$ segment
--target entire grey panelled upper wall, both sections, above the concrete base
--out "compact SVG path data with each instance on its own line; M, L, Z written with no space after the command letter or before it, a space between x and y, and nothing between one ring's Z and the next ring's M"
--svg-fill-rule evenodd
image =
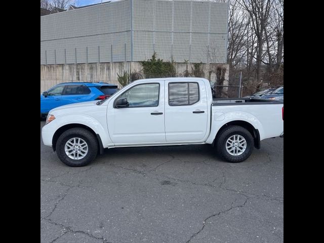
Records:
M131 0L41 17L41 64L142 61L226 63L227 4ZM209 53L209 55L208 55Z

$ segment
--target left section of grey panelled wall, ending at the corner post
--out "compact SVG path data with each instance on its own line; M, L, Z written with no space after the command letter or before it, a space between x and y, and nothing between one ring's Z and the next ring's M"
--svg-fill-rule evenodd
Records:
M131 61L130 2L42 16L41 64Z

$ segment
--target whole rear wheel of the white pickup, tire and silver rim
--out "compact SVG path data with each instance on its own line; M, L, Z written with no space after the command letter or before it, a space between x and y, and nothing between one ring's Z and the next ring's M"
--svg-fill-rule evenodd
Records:
M216 148L228 162L239 163L250 157L253 150L253 137L243 127L228 126L217 135Z

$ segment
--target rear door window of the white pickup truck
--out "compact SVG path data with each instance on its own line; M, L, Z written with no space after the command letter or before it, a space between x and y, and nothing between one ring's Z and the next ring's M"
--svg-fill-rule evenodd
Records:
M192 105L199 101L198 83L169 83L169 105Z

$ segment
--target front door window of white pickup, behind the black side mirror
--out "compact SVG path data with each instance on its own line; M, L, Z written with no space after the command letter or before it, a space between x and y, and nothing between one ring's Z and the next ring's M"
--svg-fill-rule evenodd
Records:
M158 96L159 84L143 84L129 89L117 99L127 98L129 107L153 107L158 106Z

